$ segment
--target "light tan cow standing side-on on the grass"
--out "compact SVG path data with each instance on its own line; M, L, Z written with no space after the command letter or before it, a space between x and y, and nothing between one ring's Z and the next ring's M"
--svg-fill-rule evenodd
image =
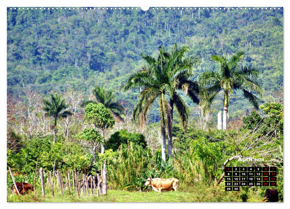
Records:
M154 178L151 179L149 177L145 183L145 186L151 186L152 189L156 192L161 192L162 190L166 191L177 191L178 188L178 179L171 178L171 179L161 179L161 178Z

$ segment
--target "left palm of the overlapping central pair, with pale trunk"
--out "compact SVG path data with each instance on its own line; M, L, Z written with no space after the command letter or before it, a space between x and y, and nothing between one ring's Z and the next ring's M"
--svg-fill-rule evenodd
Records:
M151 56L145 56L141 54L142 58L147 62L147 66L142 67L142 70L132 74L127 83L124 86L125 90L142 88L143 90L139 94L139 102L133 110L133 120L138 122L142 129L145 129L145 125L148 121L148 112L152 107L154 101L159 99L159 111L160 111L160 125L161 125L161 151L162 159L166 162L166 140L165 140L165 127L167 123L167 115L169 104L165 98L165 89L162 88L162 84L167 81L165 60L168 58L168 54L163 52L159 47L159 56L157 59Z

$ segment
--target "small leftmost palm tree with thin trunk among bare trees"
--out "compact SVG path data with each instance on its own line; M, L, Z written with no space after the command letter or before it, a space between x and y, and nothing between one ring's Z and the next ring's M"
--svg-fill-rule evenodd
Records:
M62 95L58 94L50 94L50 101L44 99L43 100L43 110L45 111L45 116L54 118L54 136L53 136L53 144L56 143L56 121L58 118L66 118L67 116L72 115L72 113L66 110L67 105L65 104L65 100L62 99Z

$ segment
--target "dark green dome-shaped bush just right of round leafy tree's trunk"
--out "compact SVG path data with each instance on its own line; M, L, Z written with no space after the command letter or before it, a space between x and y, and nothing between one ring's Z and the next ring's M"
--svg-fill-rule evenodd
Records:
M140 133L129 133L128 130L121 129L111 135L105 144L105 149L116 151L121 144L129 145L130 142L142 146L143 149L147 147L144 135Z

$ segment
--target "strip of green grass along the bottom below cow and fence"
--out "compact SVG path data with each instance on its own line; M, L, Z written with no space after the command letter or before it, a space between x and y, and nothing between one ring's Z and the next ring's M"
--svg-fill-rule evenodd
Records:
M177 192L129 192L122 190L108 190L105 196L83 194L81 198L76 192L70 196L68 191L64 191L62 197L60 191L55 192L55 198L51 191L47 191L45 198L38 190L36 197L33 193L24 196L12 195L11 190L7 192L7 202L242 202L240 196L243 191L225 192L223 187L219 188L184 188ZM250 194L247 202L261 202L256 194Z

